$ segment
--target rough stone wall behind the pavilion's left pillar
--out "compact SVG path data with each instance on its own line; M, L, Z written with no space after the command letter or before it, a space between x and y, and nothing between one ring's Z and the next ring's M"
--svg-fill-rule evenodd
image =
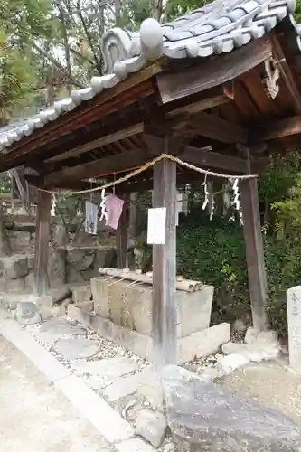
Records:
M33 222L6 223L6 240L9 249L12 251L12 258L9 258L14 267L14 261L20 259L33 259L34 263L34 245L35 245L35 225ZM101 235L101 231L99 232ZM108 233L106 233L108 241ZM71 240L74 231L71 232ZM74 245L70 245L66 237L64 227L60 224L52 224L52 240L50 243L50 256L48 265L48 277L51 287L60 287L65 283L83 283L90 278L98 276L100 267L114 267L116 264L116 250L112 244L101 246L99 238L94 238L80 231ZM112 240L110 240L112 243ZM8 259L8 258L7 258ZM5 283L5 274L2 276L2 285L24 290L24 288L33 287L33 268L29 269L28 275L20 276L27 278L26 281L15 278L14 284L10 278ZM25 283L25 284L24 284ZM10 288L8 288L10 289Z

